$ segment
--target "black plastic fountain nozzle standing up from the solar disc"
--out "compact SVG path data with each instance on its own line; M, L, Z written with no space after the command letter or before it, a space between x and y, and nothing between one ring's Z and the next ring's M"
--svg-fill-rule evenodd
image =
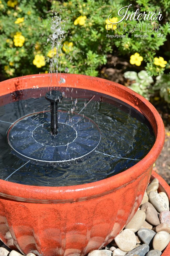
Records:
M57 119L57 109L58 102L63 99L62 92L60 91L49 91L45 96L46 100L51 103L51 132L53 135L58 133L58 119Z

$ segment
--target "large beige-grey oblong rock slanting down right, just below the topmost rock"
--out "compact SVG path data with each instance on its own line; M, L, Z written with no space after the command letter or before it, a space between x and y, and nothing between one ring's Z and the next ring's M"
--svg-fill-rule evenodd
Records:
M155 207L158 212L168 211L169 207L166 204L166 201L158 193L151 191L149 193L149 201Z

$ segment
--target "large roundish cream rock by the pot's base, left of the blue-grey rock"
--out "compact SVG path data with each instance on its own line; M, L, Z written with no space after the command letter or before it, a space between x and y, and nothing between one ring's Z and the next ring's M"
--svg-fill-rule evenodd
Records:
M115 242L123 252L129 252L136 245L135 233L130 229L124 229L115 237Z

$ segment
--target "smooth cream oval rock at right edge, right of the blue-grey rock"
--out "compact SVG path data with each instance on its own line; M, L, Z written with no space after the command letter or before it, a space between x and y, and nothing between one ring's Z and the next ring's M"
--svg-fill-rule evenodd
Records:
M166 231L160 231L154 236L152 245L155 250L160 250L162 252L162 250L168 245L169 241L170 234Z

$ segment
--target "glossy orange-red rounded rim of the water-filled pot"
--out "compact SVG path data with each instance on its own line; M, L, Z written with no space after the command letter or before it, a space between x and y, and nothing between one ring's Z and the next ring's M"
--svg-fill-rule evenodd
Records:
M90 77L86 75L77 75L77 74L62 74L62 76L65 78L69 77L70 79L74 79L74 80L75 78L80 79L81 81L87 80L89 84L90 84L90 81L92 83L95 81L98 83L104 82L105 85L107 85L108 87L110 88L114 87L114 92L104 91L102 88L97 88L95 90L93 85L91 85L90 87L91 89L89 87L87 89L100 92L100 93L105 93L112 97L119 98L124 102L130 104L134 108L136 108L138 111L140 111L147 117L147 113L145 113L144 111L141 111L138 106L138 103L136 102L135 104L134 102L132 102L133 101L132 99L135 98L135 99L138 99L140 102L144 103L147 108L147 111L149 109L149 111L154 116L154 122L155 122L154 125L156 126L155 129L157 134L155 134L156 140L153 147L142 160L140 160L137 164L133 165L131 168L123 171L122 173L111 176L109 178L95 181L95 182L90 182L88 184L60 186L60 187L57 187L57 186L43 187L43 186L22 185L22 184L10 182L10 181L4 181L0 179L0 196L1 197L5 197L15 201L24 201L24 202L32 202L32 203L37 203L37 202L64 203L64 202L84 201L90 198L108 194L112 191L117 190L120 187L126 186L127 184L133 182L135 179L138 179L138 177L140 177L143 173L145 173L147 169L154 164L157 157L160 155L161 150L163 148L164 140L165 140L165 128L163 125L163 121L160 117L160 114L157 112L155 107L148 100L146 100L143 96L139 95L138 93L132 91L131 89L123 85L120 85L118 83L105 80L102 78ZM2 88L1 95L5 95L5 94L8 94L9 92L12 92L12 91L8 92L6 89L7 85L9 87L9 82L11 83L15 83L18 81L26 82L27 80L29 81L30 79L37 79L38 81L38 79L43 79L43 78L47 79L48 77L49 77L49 74L36 74L36 75L27 75L27 76L16 77L13 79L5 80L3 82L0 82L0 86ZM40 87L43 87L43 86L41 86L40 84ZM62 85L62 87L68 87L68 85L67 84ZM78 83L71 85L71 87L86 89L84 85L81 85L81 84L79 85ZM32 88L32 87L31 86L25 87L25 89L28 89L28 88ZM24 88L18 89L18 90L23 90L23 89ZM131 100L127 100L126 98L123 98L121 96L120 91L126 91L127 95L130 95L132 97ZM119 96L119 93L120 93L120 96ZM148 117L148 120L149 120L149 117ZM150 120L149 122L152 124Z

